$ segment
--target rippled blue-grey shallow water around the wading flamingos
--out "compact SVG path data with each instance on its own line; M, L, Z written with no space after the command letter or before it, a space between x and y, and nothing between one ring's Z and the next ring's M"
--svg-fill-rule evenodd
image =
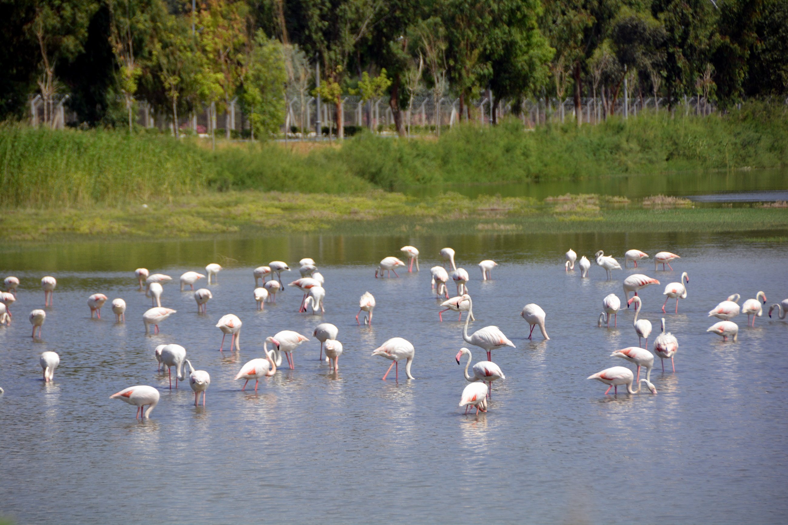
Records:
M377 261L399 247L422 250L421 272L374 279ZM487 414L463 416L466 386L454 357L462 326L438 323L429 289L437 250L453 246L471 275L477 322L496 324L516 344L493 352L507 379L495 384ZM675 272L640 271L663 286L689 272L689 298L666 316L678 337L677 372L657 368L659 394L604 396L585 378L614 365L611 351L637 344L633 312L617 329L597 327L600 301L633 270L604 280L563 271L569 247L619 258L626 248L682 255ZM255 311L251 268L314 257L325 275L325 316L296 312L292 288L277 305ZM785 244L752 244L730 236L467 235L403 238L294 235L255 240L50 245L0 253L0 268L22 279L11 327L0 327L2 438L0 515L19 523L785 523L788 519L788 322L756 320L739 341L705 329L706 312L728 294L742 300L764 290L788 297ZM481 283L476 264L500 267ZM233 262L235 260L236 262ZM226 266L206 316L191 293L165 285L163 304L178 310L160 335L144 335L149 299L132 271L166 272ZM58 278L43 341L25 319L43 305L42 275ZM297 271L285 273L285 283ZM203 281L204 283L204 281ZM658 331L660 287L642 291L645 318ZM453 287L452 287L453 288ZM377 298L374 326L355 324L359 296ZM95 292L128 303L127 323L107 305L89 319ZM548 342L528 341L522 306L547 312ZM217 352L225 313L243 320L240 353ZM261 381L258 394L232 378L262 355L267 335L291 329L311 338L327 321L340 328L344 355L329 373L312 338L294 353L296 369ZM656 331L655 334L656 335ZM538 332L538 331L536 331ZM386 339L416 347L414 381L381 381L389 361L370 357ZM188 383L167 389L153 349L176 342L210 372L207 406L195 408ZM651 342L649 342L650 344ZM57 351L54 383L43 383L39 353ZM483 353L471 348L474 362ZM657 359L657 361L659 361ZM464 360L463 360L464 366ZM162 394L151 420L110 400L126 386ZM483 512L480 508L490 509Z

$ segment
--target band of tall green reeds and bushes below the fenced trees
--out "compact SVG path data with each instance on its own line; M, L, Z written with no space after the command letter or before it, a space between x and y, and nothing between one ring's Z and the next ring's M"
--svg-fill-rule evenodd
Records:
M510 120L497 127L456 126L440 139L363 134L341 146L220 144L216 152L149 133L5 124L0 207L162 203L228 190L358 194L418 184L775 167L788 164L785 112L753 104L726 116L647 114L536 131Z

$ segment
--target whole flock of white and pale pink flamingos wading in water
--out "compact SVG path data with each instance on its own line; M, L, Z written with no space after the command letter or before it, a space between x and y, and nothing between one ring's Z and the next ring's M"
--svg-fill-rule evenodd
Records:
M395 277L399 277L396 268L407 267L407 272L413 272L415 266L415 271L419 271L418 250L414 248L414 246L403 246L401 251L409 262L406 264L397 257L385 257L375 271L376 278L383 277L384 273L390 277L391 272L394 272ZM499 379L506 379L501 368L492 361L492 350L504 348L505 346L514 347L515 344L496 326L483 327L478 331L474 331L473 334L468 335L468 324L471 320L475 320L473 300L470 298L470 294L468 294L466 288L466 283L470 279L470 276L463 268L457 268L455 264L455 250L444 248L440 250L440 256L444 260L444 265L430 268L432 290L434 290L441 299L446 299L440 304L440 307L444 308L438 312L440 321L443 321L443 313L449 310L458 312L459 320L462 320L463 312L466 312L467 315L462 334L463 341L487 353L487 360L479 361L471 367L470 364L473 357L470 353L470 349L466 347L459 349L455 359L457 364L460 364L461 358L467 356L463 372L466 381L470 383L463 389L459 406L464 406L466 408L466 414L472 407L476 409L477 414L479 411L486 412L489 400L492 397L492 382ZM634 268L637 268L638 261L642 261L647 257L649 257L649 255L640 250L629 250L624 255L624 268L626 268L630 262L634 264ZM671 262L680 258L681 257L678 257L675 253L656 253L654 256L655 272L658 271L660 264L662 264L663 270L666 265L672 270ZM581 277L588 277L591 262L587 257L583 256L580 258L580 261L577 261L577 253L575 253L574 250L569 250L566 253L566 259L567 261L564 264L566 272L573 272L574 265L577 262L580 267ZM602 250L596 253L595 259L597 265L600 266L600 268L604 268L607 272L608 279L611 279L612 270L621 269L619 262L616 261L614 257L604 255ZM315 314L318 313L318 311L325 312L323 308L323 301L325 298L325 288L322 286L325 283L323 275L318 272L314 260L310 258L302 259L299 261L299 264L299 273L301 277L288 284L289 287L296 287L303 292L303 298L299 301L299 312L307 312L307 309L310 308ZM451 268L450 270L447 270L447 264L448 267ZM495 261L481 261L478 266L481 270L482 280L492 279L492 268L497 266ZM180 276L180 290L184 291L187 286L190 287L190 290L194 290L194 285L199 279L206 279L208 285L216 283L217 274L221 269L219 264L208 264L205 268L206 275L198 272L185 272ZM265 308L266 302L276 302L277 293L280 292L284 286L281 281L281 273L289 271L290 268L288 264L282 261L273 261L267 266L260 266L253 270L252 273L255 277L253 295L258 309ZM274 274L276 274L276 279L273 277ZM158 333L158 325L162 324L169 316L177 312L176 310L162 307L162 285L172 280L172 277L161 273L151 274L146 268L137 268L135 276L139 283L139 290L144 290L146 296L150 297L152 302L151 309L143 313L145 333L150 333L151 325L153 326L154 333ZM269 280L266 281L266 278L269 278ZM260 284L260 279L262 279L262 287L258 286ZM449 298L448 294L447 284L449 279L454 281L457 288L457 295L453 298ZM11 323L10 306L16 301L17 287L19 287L20 280L10 276L5 279L4 284L6 286L6 291L0 292L0 324L7 325ZM618 394L619 386L626 386L626 392L629 394L637 394L641 390L641 383L645 383L649 391L651 391L652 394L656 394L656 387L650 381L651 371L654 366L654 354L649 352L648 349L652 324L649 320L638 319L643 302L637 295L638 290L642 290L652 284L660 284L660 281L643 274L629 275L623 280L623 290L627 308L629 308L630 305L635 305L633 327L637 334L638 346L629 346L624 349L616 350L610 354L610 357L619 357L629 361L636 367L636 372L633 373L630 368L615 366L589 375L588 379L597 379L601 383L608 385L608 390L604 393L605 395L607 395L611 389L615 389L615 394ZM678 301L679 299L687 298L688 285L689 275L687 275L687 272L682 272L681 279L678 283L669 283L665 287L663 292L665 295L665 302L662 305L663 313L666 312L665 306L669 299L675 299L675 312L678 313ZM54 290L55 287L57 287L57 280L47 275L41 279L41 287L44 291L45 307L52 305ZM630 298L630 293L634 293L632 298ZM197 304L198 312L205 313L207 303L212 298L213 295L207 288L194 290L194 299ZM739 294L733 294L728 297L726 301L720 302L719 305L716 305L715 308L708 312L708 316L718 318L719 322L709 327L707 331L721 335L723 341L727 341L728 338L736 341L738 338L738 325L735 324L732 319L738 316L739 313L747 314L748 325L754 327L756 316L760 317L763 315L762 304L765 305L767 302L766 294L764 294L763 291L759 291L758 294L756 294L756 298L746 300L741 307L738 305L740 299L741 296ZM91 311L91 318L93 316L97 316L99 319L101 318L101 309L106 301L108 301L108 298L105 294L92 294L87 298L87 306ZM362 322L362 320L359 320L359 316L362 315L362 312L364 314L363 323L372 324L375 304L375 298L369 292L361 296L359 299L359 313L355 316L359 325ZM603 312L599 316L597 325L601 327L605 324L607 327L610 327L610 320L612 317L613 326L616 327L618 321L617 314L619 309L621 309L621 305L621 300L616 294L609 294L605 297L602 300ZM125 301L121 298L113 299L111 306L116 321L125 322ZM779 319L785 319L786 312L788 312L788 299L783 300L781 303L771 305L768 311L769 317L771 317L775 309L778 312ZM539 305L533 303L525 305L520 315L530 325L529 339L533 337L533 329L535 327L539 327L543 338L549 339L547 330L545 329L545 310L541 309ZM750 316L752 316L752 324L750 324L749 321ZM46 311L43 309L34 309L30 312L28 318L33 327L32 338L36 338L36 331L40 338L43 324L46 320ZM230 335L229 351L232 351L233 348L240 351L240 331L242 325L239 317L232 313L221 317L216 324L216 327L222 332L219 351L224 351L225 338L227 335ZM320 342L319 359L323 360L323 353L325 353L325 360L329 363L329 368L335 373L338 372L339 357L342 355L343 351L342 343L337 340L339 329L334 324L322 323L315 327L312 335ZM644 339L645 345L641 345ZM236 380L244 381L241 390L245 390L249 381L254 379L256 392L259 380L264 377L271 377L277 372L277 368L281 367L283 354L287 359L288 368L294 369L296 364L293 360L292 353L306 341L309 341L307 337L296 331L290 330L279 331L277 334L267 337L263 342L264 357L248 361L240 368L240 371L235 376ZM269 349L269 345L271 349ZM671 368L673 372L675 372L673 358L678 351L678 339L675 335L672 335L671 332L665 331L664 317L661 320L660 334L657 335L653 341L653 349L656 356L660 357L663 372L665 369L664 360L666 359L671 360ZM413 363L414 353L414 346L411 342L404 338L395 337L388 339L388 341L384 342L377 349L374 349L372 356L385 357L392 361L388 370L386 370L383 375L383 380L388 377L388 373L391 372L391 369L395 368L395 378L399 381L400 360L405 360L405 375L407 379L414 379L411 374L411 364ZM208 386L210 386L210 375L205 370L195 370L191 361L186 358L186 349L183 346L177 344L159 345L155 349L154 357L158 360L159 370L161 370L162 366L167 368L170 388L173 387L172 368L175 367L175 387L177 388L178 382L184 381L187 377L187 372L184 371L184 364L188 366L188 381L191 390L193 390L195 394L195 405L199 404L199 394L203 394L203 406L205 406L206 390ZM54 371L60 364L58 353L51 351L42 353L39 363L43 370L43 380L45 382L54 380ZM469 368L471 368L472 374L469 373ZM640 377L641 368L645 368L646 371L645 378L642 379ZM633 389L634 383L637 384L637 390ZM0 388L0 393L2 392L3 390ZM151 411L158 404L159 392L153 386L129 386L116 394L112 394L110 399L120 399L129 405L135 405L137 408L136 417L148 419ZM145 410L146 406L147 410Z

